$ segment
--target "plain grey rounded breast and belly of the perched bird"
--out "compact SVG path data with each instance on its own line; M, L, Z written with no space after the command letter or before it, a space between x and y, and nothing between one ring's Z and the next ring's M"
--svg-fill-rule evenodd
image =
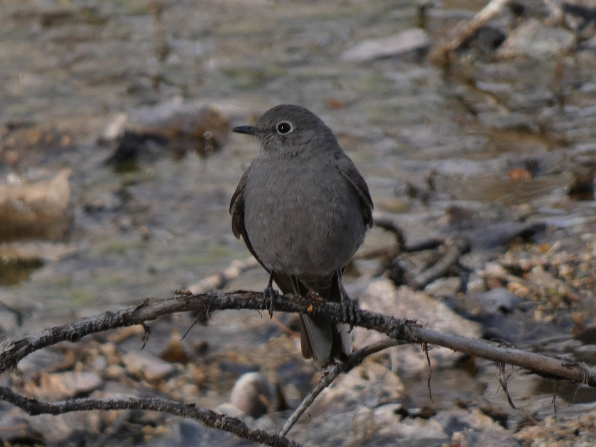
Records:
M336 167L296 159L254 163L244 223L267 268L298 276L343 268L366 231L358 196Z

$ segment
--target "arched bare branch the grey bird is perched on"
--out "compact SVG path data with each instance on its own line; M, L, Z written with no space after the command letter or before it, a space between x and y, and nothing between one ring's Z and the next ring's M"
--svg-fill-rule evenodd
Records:
M298 312L321 316L335 322L349 324L337 303L312 300L300 296L274 297L273 308L278 312ZM65 340L79 340L86 335L117 327L143 324L173 312L197 312L208 318L213 311L224 309L265 310L263 294L253 291L213 292L193 295L180 293L166 299L145 300L139 306L80 318L63 326L46 329L20 340L0 342L0 373L14 367L24 356L35 350ZM551 378L564 378L589 386L596 386L596 369L572 359L554 358L513 347L503 347L487 340L443 334L422 327L418 322L394 318L381 313L356 309L358 326L378 331L398 340L417 344L435 344L449 349L526 368Z

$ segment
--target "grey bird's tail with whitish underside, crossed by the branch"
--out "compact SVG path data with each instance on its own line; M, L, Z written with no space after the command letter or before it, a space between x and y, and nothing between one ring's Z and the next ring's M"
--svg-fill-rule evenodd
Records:
M284 293L306 296L313 290L325 301L340 303L343 299L341 274L328 278L297 280L296 277L274 274L275 283ZM347 297L346 297L347 298ZM349 325L335 323L327 318L300 315L300 342L302 355L312 358L316 365L324 367L331 359L342 359L352 352L352 337Z

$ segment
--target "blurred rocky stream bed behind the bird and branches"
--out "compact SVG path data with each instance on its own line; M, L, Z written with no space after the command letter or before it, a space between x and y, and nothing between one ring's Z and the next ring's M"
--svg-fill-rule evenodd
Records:
M228 206L258 148L229 129L294 103L334 131L377 218L412 243L470 240L462 267L426 293L400 284L387 259L357 260L346 282L363 307L594 365L596 3L502 2L455 51L432 53L485 5L3 0L0 334L201 291L201 280L249 257ZM362 250L392 244L374 228ZM434 254L394 259L393 272ZM224 290L266 281L253 268ZM181 343L192 321L155 323L142 351L142 329L61 344L0 381L46 399L158 393L216 408L238 377L259 371L266 389L277 384L267 415L235 408L279 428L318 377L299 354L296 318L220 312ZM423 353L393 351L340 380L290 436L311 445L488 445L491 436L538 445L555 432L567 433L557 445L594 440L594 390L517 372L516 411L490 362L440 350L433 360L433 400ZM86 374L81 384L65 375L74 373ZM555 417L553 387L554 431L544 422ZM30 418L0 403L3 439L241 444L166 415Z

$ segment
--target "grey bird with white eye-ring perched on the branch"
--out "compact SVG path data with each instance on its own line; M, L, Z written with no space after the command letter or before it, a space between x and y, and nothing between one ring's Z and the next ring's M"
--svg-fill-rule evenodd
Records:
M356 166L324 122L298 105L277 105L254 126L259 156L240 179L229 206L232 231L283 293L352 306L342 272L373 225L373 201ZM271 308L270 308L271 312ZM324 366L352 352L347 324L300 315L302 354Z

